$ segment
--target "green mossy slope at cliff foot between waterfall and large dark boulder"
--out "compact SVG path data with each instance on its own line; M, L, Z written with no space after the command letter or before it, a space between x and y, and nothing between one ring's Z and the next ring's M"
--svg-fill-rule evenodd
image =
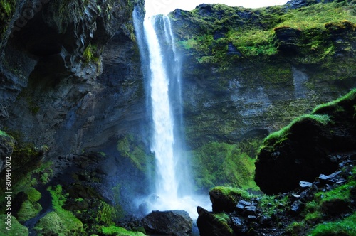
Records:
M243 144L241 144L243 145ZM244 189L258 189L254 182L254 157L244 145L211 142L192 152L192 173L197 188L209 189L214 186L239 186Z

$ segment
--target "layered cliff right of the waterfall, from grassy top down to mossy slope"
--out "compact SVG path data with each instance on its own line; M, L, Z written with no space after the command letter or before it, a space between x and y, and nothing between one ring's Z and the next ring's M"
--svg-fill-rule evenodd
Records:
M189 146L263 136L355 87L355 6L318 2L201 4L171 14L184 55Z

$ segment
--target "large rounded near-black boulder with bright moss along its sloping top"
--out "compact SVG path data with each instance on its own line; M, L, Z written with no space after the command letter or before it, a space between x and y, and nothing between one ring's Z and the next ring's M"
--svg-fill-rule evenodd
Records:
M256 183L261 191L281 193L313 181L338 166L336 151L355 151L356 90L295 119L265 139L256 161Z

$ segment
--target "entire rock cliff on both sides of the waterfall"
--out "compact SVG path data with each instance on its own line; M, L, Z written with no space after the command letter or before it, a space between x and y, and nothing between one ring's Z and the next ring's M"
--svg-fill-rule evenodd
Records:
M134 215L132 198L152 184L132 22L134 8L142 21L143 4L1 1L1 166L13 157L13 214L30 231L120 230L103 226ZM197 188L246 187L264 137L356 86L355 15L355 1L299 0L266 9L202 4L169 15L183 65L184 107L174 111L184 111Z

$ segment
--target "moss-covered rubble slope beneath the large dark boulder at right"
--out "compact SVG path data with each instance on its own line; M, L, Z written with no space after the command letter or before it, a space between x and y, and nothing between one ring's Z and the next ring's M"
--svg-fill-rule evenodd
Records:
M354 235L355 159L350 154L340 155L340 168L328 176L320 175L308 188L278 195L214 188L213 212L197 209L200 234ZM216 203L224 204L214 208Z

